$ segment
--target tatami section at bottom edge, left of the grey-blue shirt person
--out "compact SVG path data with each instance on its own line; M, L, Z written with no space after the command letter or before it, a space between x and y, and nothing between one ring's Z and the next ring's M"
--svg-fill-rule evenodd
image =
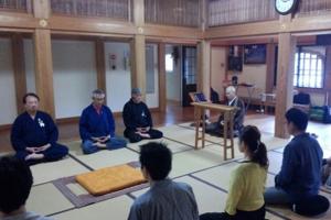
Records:
M56 220L126 220L134 200L121 196L53 216Z

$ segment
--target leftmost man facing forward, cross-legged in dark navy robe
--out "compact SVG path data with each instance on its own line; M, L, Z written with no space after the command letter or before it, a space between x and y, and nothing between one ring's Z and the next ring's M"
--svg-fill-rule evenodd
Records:
M10 136L17 157L33 165L67 155L67 147L56 143L58 131L52 117L39 110L39 97L26 94L23 103L25 112L15 119Z

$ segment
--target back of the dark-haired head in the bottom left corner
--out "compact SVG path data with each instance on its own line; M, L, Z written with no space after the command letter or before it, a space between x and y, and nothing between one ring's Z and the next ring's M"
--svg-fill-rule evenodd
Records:
M24 161L13 156L0 158L0 211L10 213L23 206L33 178Z

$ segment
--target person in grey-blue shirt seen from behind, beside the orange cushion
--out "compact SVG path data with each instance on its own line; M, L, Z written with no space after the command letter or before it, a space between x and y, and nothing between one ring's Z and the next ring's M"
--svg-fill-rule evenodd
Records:
M150 189L135 200L128 220L199 220L191 186L168 178L172 161L170 150L162 143L143 144L139 161Z

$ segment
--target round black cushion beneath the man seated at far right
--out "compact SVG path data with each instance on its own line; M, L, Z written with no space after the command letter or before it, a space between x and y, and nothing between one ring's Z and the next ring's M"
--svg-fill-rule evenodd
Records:
M329 199L321 195L316 195L293 205L293 211L301 216L318 216L328 211L330 207Z

